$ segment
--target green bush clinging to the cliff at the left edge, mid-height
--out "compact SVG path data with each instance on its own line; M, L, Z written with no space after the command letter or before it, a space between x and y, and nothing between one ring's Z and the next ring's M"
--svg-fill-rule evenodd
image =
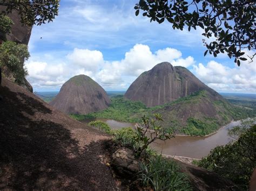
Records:
M24 60L29 58L28 47L12 41L0 46L0 67L7 67L14 75L16 83L21 84L28 72L24 69Z

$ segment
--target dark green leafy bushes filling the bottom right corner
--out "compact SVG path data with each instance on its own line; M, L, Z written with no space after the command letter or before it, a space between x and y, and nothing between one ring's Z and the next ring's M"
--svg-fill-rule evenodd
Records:
M199 166L220 174L247 190L256 167L256 125L242 133L237 142L215 147Z

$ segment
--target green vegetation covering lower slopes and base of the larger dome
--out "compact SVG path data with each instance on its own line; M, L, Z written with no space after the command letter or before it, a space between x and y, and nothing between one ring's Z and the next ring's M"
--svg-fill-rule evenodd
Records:
M183 112L190 108L212 107L211 117L203 112L191 112L188 118L181 118ZM241 108L224 101L212 101L208 97L207 91L197 91L186 97L181 97L176 101L147 108L139 101L125 99L122 95L111 98L109 108L93 112L87 115L72 115L71 117L83 121L93 118L109 118L123 122L142 123L142 117L153 117L153 114L159 113L164 121L161 125L167 130L175 130L177 133L184 133L191 136L205 136L217 131L221 126L233 120L239 120L247 117L254 117L255 110Z

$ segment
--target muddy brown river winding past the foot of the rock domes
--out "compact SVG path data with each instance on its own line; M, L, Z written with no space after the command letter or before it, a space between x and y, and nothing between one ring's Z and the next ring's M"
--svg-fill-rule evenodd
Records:
M134 128L135 126L134 123L118 122L112 119L97 118L94 120L103 121L112 129L121 129L129 126ZM84 123L88 123L88 121L84 121ZM162 154L200 159L209 154L214 147L230 142L232 138L227 135L228 129L239 124L240 121L231 122L220 128L213 135L206 137L176 136L165 142L158 140L156 143L152 143L151 147Z

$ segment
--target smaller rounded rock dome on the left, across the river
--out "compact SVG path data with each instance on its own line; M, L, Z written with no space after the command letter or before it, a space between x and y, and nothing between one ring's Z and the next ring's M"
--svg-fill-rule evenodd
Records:
M69 79L50 102L50 105L66 114L88 114L106 109L109 104L106 91L86 75Z

